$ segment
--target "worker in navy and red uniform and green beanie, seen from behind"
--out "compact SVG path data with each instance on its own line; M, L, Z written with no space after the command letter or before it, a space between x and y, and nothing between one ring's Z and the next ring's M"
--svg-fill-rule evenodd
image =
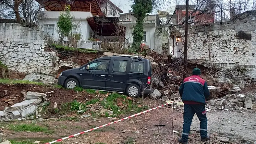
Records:
M200 120L201 141L210 140L205 110L206 99L210 96L210 92L206 81L200 78L200 75L201 70L199 68L193 69L192 76L185 78L179 88L180 97L184 103L183 131L182 137L178 139L179 143L182 144L188 143L190 126L195 113Z

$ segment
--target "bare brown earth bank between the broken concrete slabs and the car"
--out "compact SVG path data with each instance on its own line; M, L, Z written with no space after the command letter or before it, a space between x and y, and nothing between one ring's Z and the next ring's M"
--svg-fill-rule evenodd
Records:
M54 102L56 101L58 106L73 100L90 100L95 96L86 92L77 93L73 90L65 90L54 86L38 86L35 84L0 84L0 110L4 110L5 107L23 101L24 95L22 94L22 91L25 93L27 91L47 93L47 98L52 101L51 105L54 105Z

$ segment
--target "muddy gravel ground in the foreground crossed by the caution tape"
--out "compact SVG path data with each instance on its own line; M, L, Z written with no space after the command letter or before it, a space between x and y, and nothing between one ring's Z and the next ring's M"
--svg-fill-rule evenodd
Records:
M151 107L155 107L161 105L159 101L146 101L151 105ZM76 138L71 138L64 140L63 144L178 144L177 139L182 132L182 121L183 115L182 110L174 110L174 123L172 126L172 109L168 107L163 107L160 109L153 110L151 112L145 113L144 115L137 116L132 119L127 119L122 122L115 123L113 125L99 128L98 130L88 132L87 134L83 134L77 136ZM213 118L213 115L217 117L217 119L223 119L225 115L228 115L227 118L230 118L230 115L234 115L234 119L239 119L241 114L234 114L234 113L223 113L221 112L214 112L208 114L209 116L209 133L212 136L212 140L203 143L200 141L199 135L199 123L195 118L194 123L192 125L191 135L189 136L189 143L190 144L223 144L220 141L217 141L216 136L219 136L219 132L223 132L223 127L225 125L221 125L217 121L215 123L216 118ZM245 115L244 113L243 115ZM251 115L252 113L248 113ZM218 117L218 115L220 115ZM251 115L250 118L255 117L255 115ZM225 119L225 118L224 118ZM36 125L47 127L53 131L52 134L44 134L43 132L14 132L4 129L4 125L8 125L8 123L1 123L0 131L7 135L8 139L12 140L48 140L48 139L59 139L64 138L66 136L76 134L78 132L89 130L90 128L94 128L96 126L101 126L107 124L112 121L116 121L118 119L115 118L106 118L106 117L96 117L96 118L83 118L77 121L67 121L63 120L63 118L51 118L45 119L44 122L36 121ZM248 120L251 122L252 119ZM34 123L35 121L24 121L22 123ZM231 120L231 122L233 122ZM19 122L20 123L20 122ZM13 124L13 123L12 123ZM196 124L196 125L195 125ZM164 126L154 126L154 125L164 125ZM214 126L213 126L214 125ZM227 125L230 129L236 130L235 127L237 125ZM240 125L239 125L240 126ZM172 127L173 130L176 130L174 134L174 138L172 137ZM223 127L220 129L220 127ZM244 129L246 130L246 129ZM228 136L230 139L230 144L253 144L253 142L243 141L241 143L241 139L239 136L242 136L241 133L248 132L255 134L255 131L246 130L237 133L235 136ZM232 134L232 133L227 133ZM223 136L223 135L221 135ZM235 142L235 143L234 143Z

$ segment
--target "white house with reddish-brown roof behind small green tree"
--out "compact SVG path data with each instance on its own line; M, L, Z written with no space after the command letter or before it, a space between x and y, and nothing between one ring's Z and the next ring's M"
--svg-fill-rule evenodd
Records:
M58 39L57 22L61 12L65 8L65 4L60 0L44 1L39 4L44 7L44 17L39 20L39 25L44 31L44 35L55 41ZM73 16L73 31L81 31L81 44L79 48L92 48L97 41L91 42L90 39L99 38L98 27L101 23L95 22L95 17L120 17L123 11L114 5L110 0L74 0L71 6L70 14ZM78 26L79 30L78 30ZM100 26L101 27L101 26ZM106 29L103 27L103 29ZM104 31L102 31L104 33ZM104 35L106 36L106 35Z

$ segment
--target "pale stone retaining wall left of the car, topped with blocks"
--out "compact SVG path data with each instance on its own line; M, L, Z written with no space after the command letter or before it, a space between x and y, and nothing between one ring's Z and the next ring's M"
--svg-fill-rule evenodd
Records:
M0 61L8 69L22 73L40 71L54 73L65 65L77 67L69 61L60 61L54 51L46 51L43 31L17 23L0 23Z

